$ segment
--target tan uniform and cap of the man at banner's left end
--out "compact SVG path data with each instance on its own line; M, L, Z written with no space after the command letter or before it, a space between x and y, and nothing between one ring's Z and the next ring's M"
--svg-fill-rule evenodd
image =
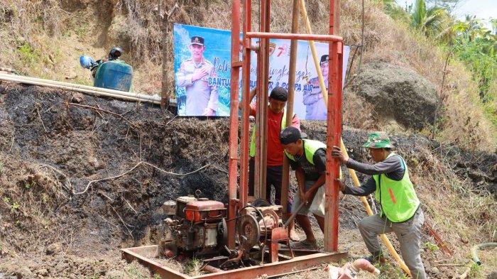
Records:
M193 36L190 45L204 46L204 38ZM195 72L201 70L206 70L207 75L200 80L192 81ZM217 111L219 107L217 85L209 86L209 77L216 78L217 73L214 65L205 58L202 57L202 62L195 62L193 58L190 58L181 63L180 70L176 73L176 82L178 87L186 89L186 114L188 116L202 116L207 108Z

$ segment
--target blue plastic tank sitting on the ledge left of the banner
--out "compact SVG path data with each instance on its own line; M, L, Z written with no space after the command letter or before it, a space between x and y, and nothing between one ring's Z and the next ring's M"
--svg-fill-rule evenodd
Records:
M129 91L133 80L133 67L123 60L107 61L99 65L94 87Z

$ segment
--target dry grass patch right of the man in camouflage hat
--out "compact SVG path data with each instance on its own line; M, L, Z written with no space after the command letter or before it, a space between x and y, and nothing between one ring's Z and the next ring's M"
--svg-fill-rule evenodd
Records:
M472 192L469 182L458 177L442 155L430 151L418 155L419 161L410 160L410 173L417 181L426 216L456 252L454 258L468 258L469 247L474 244L497 241L493 195Z

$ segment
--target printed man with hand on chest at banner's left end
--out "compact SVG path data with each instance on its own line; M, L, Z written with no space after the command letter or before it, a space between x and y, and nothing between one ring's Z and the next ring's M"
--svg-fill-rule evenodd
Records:
M219 107L217 86L209 86L209 77L217 77L216 69L204 58L204 38L194 35L188 47L191 57L176 72L176 85L185 87L187 116L216 116Z

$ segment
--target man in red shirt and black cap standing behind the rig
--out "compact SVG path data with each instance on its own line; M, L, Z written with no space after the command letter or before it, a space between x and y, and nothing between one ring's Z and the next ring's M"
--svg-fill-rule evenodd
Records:
M256 95L256 89L250 92L250 101ZM275 87L269 94L268 104L268 148L267 148L267 165L266 165L266 200L271 202L271 185L275 189L275 204L281 204L281 183L283 177L283 147L280 143L280 132L285 128L286 124L286 101L288 99L288 91L283 87ZM239 108L241 109L240 102ZM250 105L250 115L256 116L256 105ZM296 114L293 115L292 125L300 130L300 120ZM254 169L256 155L256 131L252 131L250 160L249 160L249 195L253 196L254 185ZM288 209L292 208L290 200L288 201ZM299 237L295 233L295 227L290 224L290 239L298 241Z

